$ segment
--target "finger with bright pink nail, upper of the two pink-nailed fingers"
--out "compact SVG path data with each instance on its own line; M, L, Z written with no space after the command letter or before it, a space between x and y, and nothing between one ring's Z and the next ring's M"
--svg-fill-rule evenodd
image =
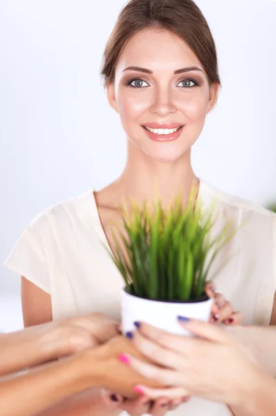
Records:
M136 372L142 374L142 376L145 376L147 379L151 379L151 381L158 381L163 385L178 385L179 383L179 376L176 371L167 370L165 368L146 363L145 361L141 361L139 358L131 356L131 354L121 354L119 356L119 360L122 361L122 363L129 365L131 368L136 370Z

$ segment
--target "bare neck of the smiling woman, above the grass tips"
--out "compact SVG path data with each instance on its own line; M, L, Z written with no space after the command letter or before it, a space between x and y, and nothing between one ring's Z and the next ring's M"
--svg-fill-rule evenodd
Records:
M199 180L192 170L190 151L174 162L157 162L129 143L127 164L116 181L116 188L120 196L149 203L157 193L163 205L181 195L186 205L192 184L197 187Z

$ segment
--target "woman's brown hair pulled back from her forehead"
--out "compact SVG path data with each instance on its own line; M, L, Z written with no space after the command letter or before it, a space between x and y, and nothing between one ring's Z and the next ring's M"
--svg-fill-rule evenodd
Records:
M101 75L113 83L115 68L127 41L145 28L161 28L183 39L205 69L209 83L219 83L214 38L201 10L192 0L131 0L122 9L104 50Z

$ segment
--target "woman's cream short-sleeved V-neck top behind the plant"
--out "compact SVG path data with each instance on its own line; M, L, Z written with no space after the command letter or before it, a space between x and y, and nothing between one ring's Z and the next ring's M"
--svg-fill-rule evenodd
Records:
M243 312L246 324L268 324L276 288L276 215L203 180L199 200L207 207L216 201L219 219L213 232L229 218L234 226L245 221L214 265L215 270L234 252L215 282L234 309ZM106 248L109 245L89 190L35 217L5 265L50 293L54 320L92 311L120 320L123 280ZM193 398L170 414L224 416L232 412L223 404Z

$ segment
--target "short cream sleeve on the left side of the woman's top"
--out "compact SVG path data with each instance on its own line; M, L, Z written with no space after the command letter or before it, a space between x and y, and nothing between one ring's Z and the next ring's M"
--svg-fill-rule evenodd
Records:
M50 294L48 264L41 233L43 222L45 223L45 218L38 216L24 229L4 266Z

